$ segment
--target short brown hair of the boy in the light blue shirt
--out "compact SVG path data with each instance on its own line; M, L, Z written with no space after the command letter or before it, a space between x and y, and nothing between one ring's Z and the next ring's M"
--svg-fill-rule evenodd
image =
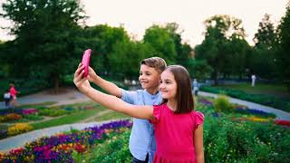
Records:
M166 62L160 57L150 57L142 60L140 64L145 64L149 67L154 68L158 72L163 72L167 66Z

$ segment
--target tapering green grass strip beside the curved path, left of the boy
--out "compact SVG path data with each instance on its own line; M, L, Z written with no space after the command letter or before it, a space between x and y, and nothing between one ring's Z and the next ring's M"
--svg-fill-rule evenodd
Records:
M43 122L39 122L39 123L33 123L32 126L34 127L34 129L44 129L44 128L50 128L53 126L60 126L60 125L64 125L64 124L72 124L72 123L76 123L76 122L81 121L81 120L85 120L85 119L97 114L101 110L100 109L83 110L80 112L76 112L73 114L63 116L61 118L47 120L47 121L43 121Z

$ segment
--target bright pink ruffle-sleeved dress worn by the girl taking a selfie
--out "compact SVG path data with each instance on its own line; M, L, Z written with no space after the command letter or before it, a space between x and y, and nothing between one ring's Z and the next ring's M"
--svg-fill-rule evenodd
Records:
M166 103L154 105L154 126L157 150L153 162L196 163L194 131L203 123L204 115L198 111L175 114Z

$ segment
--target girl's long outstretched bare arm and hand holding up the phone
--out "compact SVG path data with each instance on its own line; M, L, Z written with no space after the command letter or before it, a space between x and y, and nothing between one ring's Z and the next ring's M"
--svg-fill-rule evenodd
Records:
M127 114L131 117L139 119L153 120L153 107L152 106L140 106L140 105L131 105L124 101L121 101L115 96L105 94L101 91L93 89L90 85L90 82L87 78L82 78L84 71L83 66L79 68L74 73L73 82L75 86L82 91L83 94L100 103L102 106L115 110L124 114Z

